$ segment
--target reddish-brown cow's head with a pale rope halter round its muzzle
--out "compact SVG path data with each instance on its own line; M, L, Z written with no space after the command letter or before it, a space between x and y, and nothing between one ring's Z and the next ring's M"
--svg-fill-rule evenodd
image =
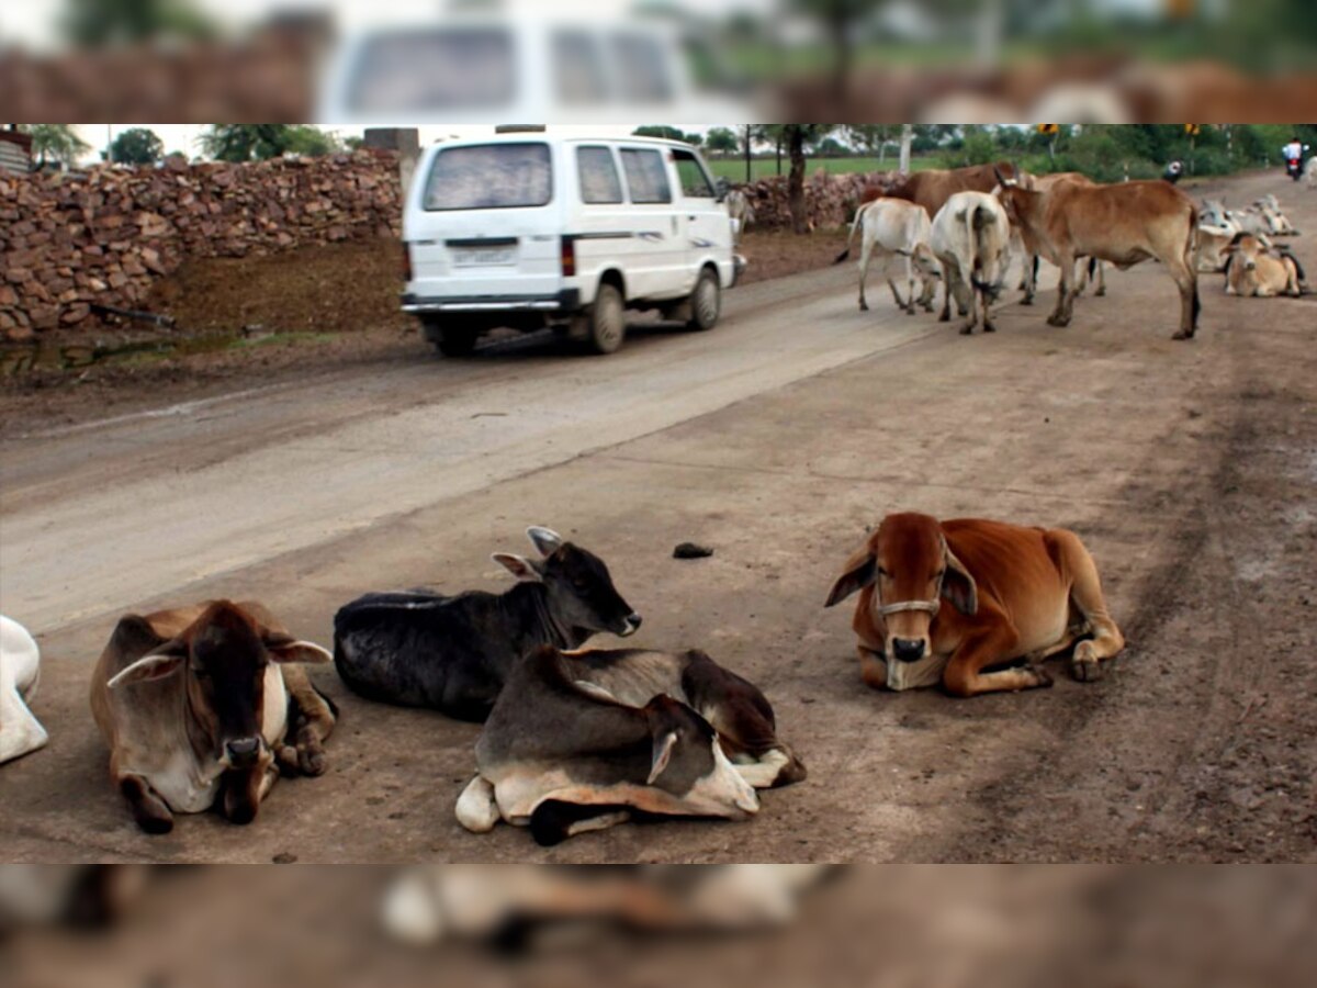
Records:
M888 515L832 585L831 607L872 586L874 624L885 628L886 660L917 663L931 652L932 619L942 601L961 614L979 610L973 577L947 545L938 519Z

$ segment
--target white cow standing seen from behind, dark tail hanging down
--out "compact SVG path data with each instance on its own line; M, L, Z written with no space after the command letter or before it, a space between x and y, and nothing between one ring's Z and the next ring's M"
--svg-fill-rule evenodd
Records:
M990 306L1001 295L1010 266L1010 221L1001 203L988 192L956 192L932 220L931 245L942 262L939 319L951 319L955 295L960 315L969 317L961 333L973 332L980 308L984 332L994 332Z

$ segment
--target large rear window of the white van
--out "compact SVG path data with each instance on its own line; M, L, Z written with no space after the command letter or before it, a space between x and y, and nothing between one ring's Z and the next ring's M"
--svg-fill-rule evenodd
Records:
M481 144L435 155L425 209L511 209L553 198L547 144Z

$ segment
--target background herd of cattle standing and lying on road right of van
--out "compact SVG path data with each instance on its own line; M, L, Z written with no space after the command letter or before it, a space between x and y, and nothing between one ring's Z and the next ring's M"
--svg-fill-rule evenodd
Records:
M1274 238L1297 233L1274 195L1231 211L1206 200L1200 211L1169 182L1100 184L1080 173L1030 175L1009 162L965 169L917 171L872 184L861 198L849 241L860 233L860 308L877 260L900 308L932 311L943 283L942 321L951 300L968 316L963 333L996 328L990 307L1001 298L1013 256L1021 256L1021 302L1036 294L1039 260L1060 269L1052 325L1068 325L1075 299L1088 279L1106 292L1104 263L1130 267L1155 260L1180 292L1176 340L1197 329L1200 273L1225 274L1226 292L1268 298L1306 290L1297 258ZM906 298L890 277L890 262L905 261ZM1087 265L1079 265L1087 261ZM1076 270L1079 267L1079 270Z

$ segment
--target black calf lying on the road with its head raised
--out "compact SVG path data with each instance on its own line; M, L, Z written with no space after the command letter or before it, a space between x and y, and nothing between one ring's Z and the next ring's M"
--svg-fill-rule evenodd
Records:
M598 556L539 526L540 560L493 559L518 578L503 594L373 593L335 615L335 665L367 700L489 717L512 667L540 645L577 648L595 632L627 636L640 615Z

